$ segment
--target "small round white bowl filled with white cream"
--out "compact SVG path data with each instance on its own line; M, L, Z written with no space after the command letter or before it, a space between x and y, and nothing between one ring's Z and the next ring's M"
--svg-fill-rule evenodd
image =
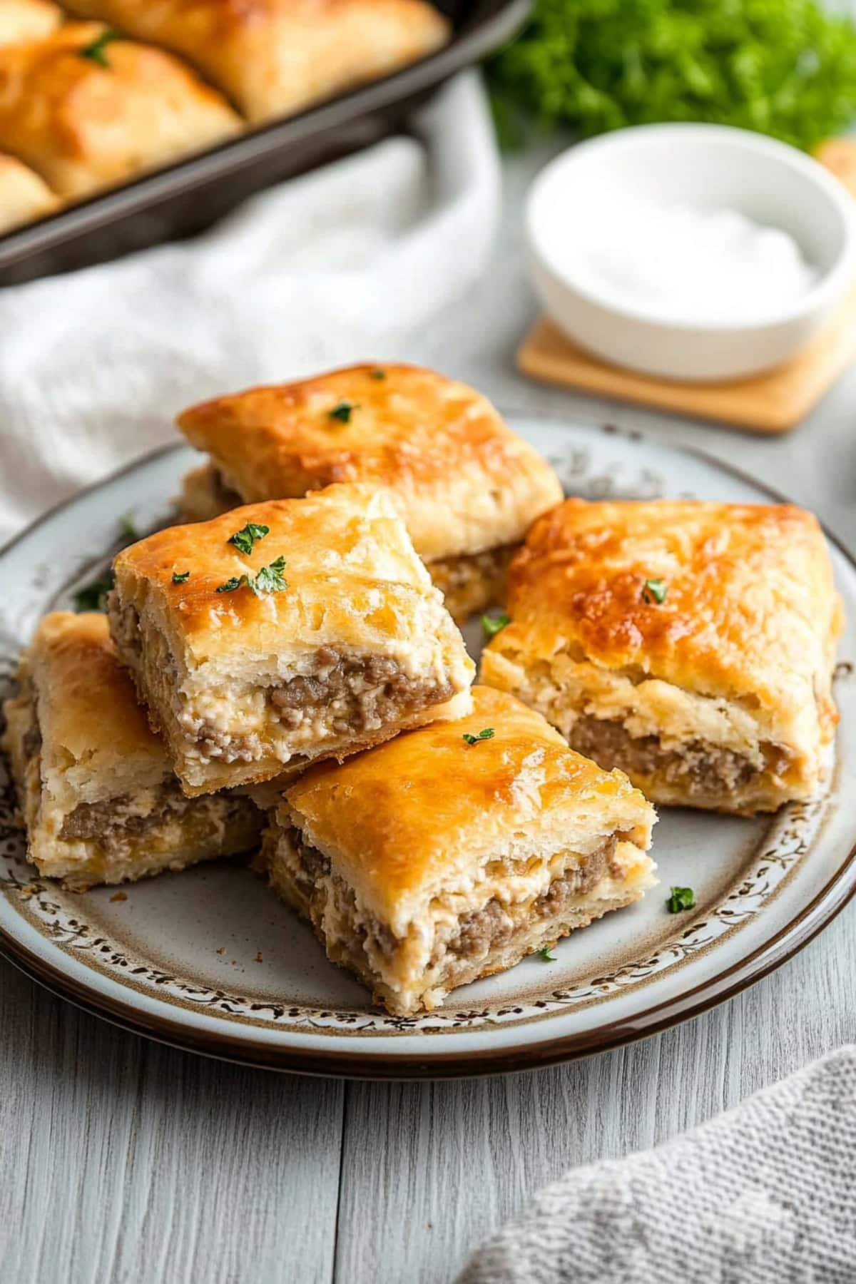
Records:
M667 379L769 370L856 271L852 198L785 144L712 125L622 130L565 152L526 207L535 289L604 360Z

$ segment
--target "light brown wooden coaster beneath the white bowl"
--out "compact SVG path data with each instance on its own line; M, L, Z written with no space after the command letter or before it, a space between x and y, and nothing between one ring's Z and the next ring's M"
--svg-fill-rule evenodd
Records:
M856 140L832 139L817 159L856 195ZM856 290L796 357L764 375L732 383L684 384L611 366L542 317L517 351L525 375L616 401L657 406L756 433L787 433L805 419L856 357Z

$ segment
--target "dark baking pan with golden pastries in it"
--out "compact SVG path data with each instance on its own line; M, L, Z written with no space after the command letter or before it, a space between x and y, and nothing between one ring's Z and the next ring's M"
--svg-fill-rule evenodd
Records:
M0 152L45 199L0 218L0 285L191 235L377 141L529 3L68 0L58 23L15 0L5 35L0 15Z

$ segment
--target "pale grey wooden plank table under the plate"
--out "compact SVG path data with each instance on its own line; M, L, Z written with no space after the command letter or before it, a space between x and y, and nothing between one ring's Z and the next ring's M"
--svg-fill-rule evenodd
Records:
M516 375L534 316L520 196L539 159L508 168L489 276L407 354L508 410L701 446L815 508L856 547L856 370L782 439ZM856 904L779 972L689 1025L575 1064L457 1084L343 1084L204 1061L80 1013L0 962L0 1279L445 1284L567 1167L661 1141L853 1039Z

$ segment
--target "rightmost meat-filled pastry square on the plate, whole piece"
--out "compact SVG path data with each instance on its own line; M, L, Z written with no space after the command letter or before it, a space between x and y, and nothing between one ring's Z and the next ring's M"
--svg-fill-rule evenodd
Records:
M569 499L517 556L481 678L655 802L752 814L816 792L842 606L793 505Z

